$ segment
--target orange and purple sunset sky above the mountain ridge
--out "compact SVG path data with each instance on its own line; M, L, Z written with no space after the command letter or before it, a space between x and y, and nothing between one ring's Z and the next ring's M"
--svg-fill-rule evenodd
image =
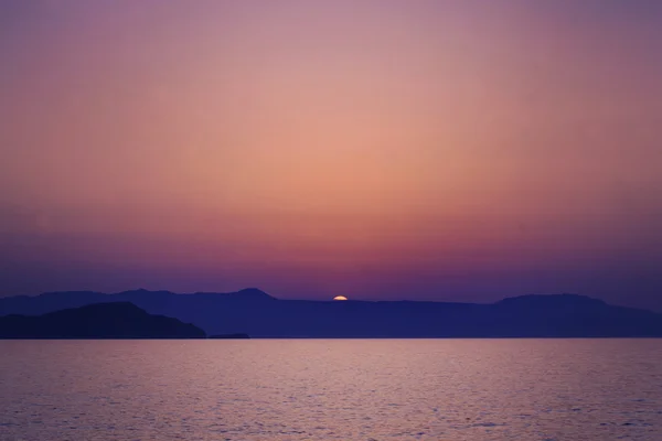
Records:
M0 0L0 295L662 311L662 2Z

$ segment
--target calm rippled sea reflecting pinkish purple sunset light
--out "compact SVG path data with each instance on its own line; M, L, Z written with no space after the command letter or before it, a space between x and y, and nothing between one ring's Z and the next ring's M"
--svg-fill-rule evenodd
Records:
M0 341L1 440L662 440L662 340Z

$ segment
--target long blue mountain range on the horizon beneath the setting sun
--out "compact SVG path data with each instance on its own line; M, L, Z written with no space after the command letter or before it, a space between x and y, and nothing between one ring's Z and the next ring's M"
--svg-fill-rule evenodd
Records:
M206 332L213 338L238 338L238 335L266 338L662 337L662 314L615 306L578 294L521 295L492 304L477 304L279 300L258 289L192 294L148 290L116 294L74 291L2 298L0 315L49 314L86 304L105 303L98 306L103 311L100 315L109 316L113 312L108 305L110 302L124 302L124 305L118 306L120 310L134 311L136 314L139 311L143 323L150 324L141 331L142 334L134 329L124 330L119 334L127 336L190 337L202 336ZM71 315L74 322L77 320L83 323L82 314L90 312L94 310L62 311L58 314ZM149 314L161 318L148 319ZM159 321L174 320L163 315L177 321L168 322L172 324L172 329L159 329L156 332L156 323ZM53 314L39 320L50 323L61 316L63 315ZM28 323L30 319L9 316L0 319L0 323L12 320ZM63 320L58 323L65 322ZM94 335L107 336L118 332L113 327L103 327L102 322L85 323L99 326L93 327L96 330ZM179 324L175 326L174 323ZM152 324L154 327L151 327ZM64 335L88 336L81 329L76 333L72 331Z

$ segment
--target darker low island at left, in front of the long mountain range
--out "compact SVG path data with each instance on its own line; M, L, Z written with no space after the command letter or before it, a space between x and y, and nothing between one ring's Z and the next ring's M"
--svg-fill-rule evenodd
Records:
M200 327L151 315L129 302L97 303L38 316L0 316L0 338L204 338Z

